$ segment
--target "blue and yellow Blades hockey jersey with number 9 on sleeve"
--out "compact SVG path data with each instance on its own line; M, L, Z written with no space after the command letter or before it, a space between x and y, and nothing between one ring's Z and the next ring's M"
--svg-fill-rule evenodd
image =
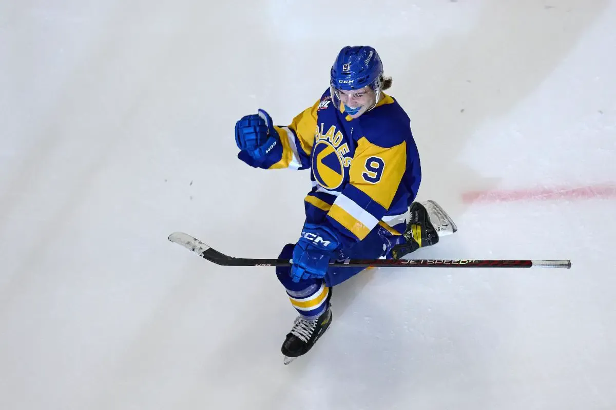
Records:
M323 93L286 127L275 126L280 144L259 167L310 168L306 220L341 235L344 248L377 225L394 235L407 226L408 207L421 183L421 166L410 119L389 95L352 119ZM253 167L246 156L240 156Z

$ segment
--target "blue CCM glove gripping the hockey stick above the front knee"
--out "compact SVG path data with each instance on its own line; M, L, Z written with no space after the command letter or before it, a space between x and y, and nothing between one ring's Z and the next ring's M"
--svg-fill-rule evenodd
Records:
M331 259L338 256L339 248L340 241L330 228L304 224L302 235L293 248L293 265L290 270L293 282L325 277Z

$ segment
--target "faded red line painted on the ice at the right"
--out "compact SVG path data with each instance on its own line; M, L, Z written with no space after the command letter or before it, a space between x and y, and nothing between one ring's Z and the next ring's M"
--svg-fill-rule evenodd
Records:
M511 191L463 192L462 202L513 202L521 200L575 200L616 198L616 185L604 184L581 187L513 189Z

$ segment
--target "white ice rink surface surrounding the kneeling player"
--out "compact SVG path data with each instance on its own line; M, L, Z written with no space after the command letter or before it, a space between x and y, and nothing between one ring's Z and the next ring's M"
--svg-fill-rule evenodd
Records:
M167 235L297 239L307 171L246 166L233 126L289 124L347 44L460 229L416 257L573 267L365 272L283 366L273 270ZM0 409L616 408L616 198L567 194L616 184L615 52L608 0L1 2Z

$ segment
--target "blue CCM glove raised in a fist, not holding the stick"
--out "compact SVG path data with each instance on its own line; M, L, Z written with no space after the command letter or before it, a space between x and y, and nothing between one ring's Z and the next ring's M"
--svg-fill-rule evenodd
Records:
M261 165L267 153L280 144L272 117L262 109L259 114L241 117L235 123L235 144L241 149L239 159L253 167Z

